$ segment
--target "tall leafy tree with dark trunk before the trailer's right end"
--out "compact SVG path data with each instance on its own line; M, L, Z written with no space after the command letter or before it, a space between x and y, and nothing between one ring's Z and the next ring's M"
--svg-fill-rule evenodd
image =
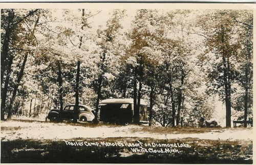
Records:
M140 121L140 100L143 96L143 84L146 79L146 66L157 64L161 38L162 22L166 17L157 10L138 10L128 34L131 44L127 50L127 63L133 63L133 99L134 123Z

